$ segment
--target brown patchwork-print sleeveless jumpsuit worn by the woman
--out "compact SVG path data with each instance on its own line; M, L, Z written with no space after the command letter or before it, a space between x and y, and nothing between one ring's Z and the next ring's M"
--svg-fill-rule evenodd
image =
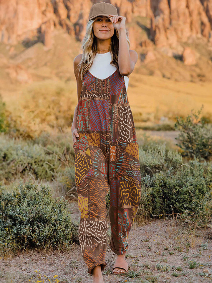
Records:
M124 76L117 68L106 79L84 75L74 142L75 182L81 211L79 240L88 273L101 265L107 246L105 196L110 190L110 249L124 254L140 201L138 143Z

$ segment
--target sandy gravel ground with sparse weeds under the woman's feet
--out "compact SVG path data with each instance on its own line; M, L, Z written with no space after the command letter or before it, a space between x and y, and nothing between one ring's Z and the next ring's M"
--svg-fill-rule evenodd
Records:
M72 204L72 213L79 221L77 202ZM107 244L107 266L102 272L105 283L212 282L212 239L205 238L201 231L185 230L172 219L152 220L143 226L134 224L126 254L128 274L111 273L115 258ZM73 244L68 252L29 250L11 258L2 257L0 282L91 283L92 276L87 273L80 246Z

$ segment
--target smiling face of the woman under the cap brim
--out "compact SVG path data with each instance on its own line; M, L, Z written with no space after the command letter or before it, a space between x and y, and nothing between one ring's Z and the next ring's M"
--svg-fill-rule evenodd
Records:
M99 39L108 39L114 34L114 27L109 17L97 16L93 23L93 32Z

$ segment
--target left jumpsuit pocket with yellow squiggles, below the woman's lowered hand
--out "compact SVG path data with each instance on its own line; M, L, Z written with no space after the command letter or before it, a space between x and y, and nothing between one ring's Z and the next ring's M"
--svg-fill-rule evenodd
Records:
M92 161L91 161L90 149L87 141L87 134L82 134L82 136L80 136L80 139L74 142L73 148L75 153L75 160L74 160L75 182L76 182L76 187L78 187L80 182L82 182L85 179L87 174L93 175L93 173L91 172Z

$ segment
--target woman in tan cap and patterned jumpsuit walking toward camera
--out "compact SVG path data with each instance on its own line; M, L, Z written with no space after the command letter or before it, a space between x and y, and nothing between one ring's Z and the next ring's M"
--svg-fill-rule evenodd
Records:
M112 272L128 271L128 235L140 200L140 163L134 121L127 98L137 52L129 50L125 17L115 6L91 7L83 53L74 58L78 104L72 124L75 181L81 211L79 240L93 282L103 282L110 190Z

